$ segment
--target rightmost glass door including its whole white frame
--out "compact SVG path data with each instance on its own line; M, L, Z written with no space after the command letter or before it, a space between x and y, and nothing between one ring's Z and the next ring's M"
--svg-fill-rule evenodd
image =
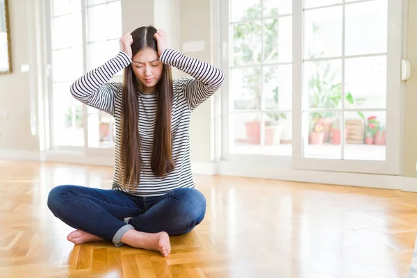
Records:
M293 1L293 167L399 174L401 10Z

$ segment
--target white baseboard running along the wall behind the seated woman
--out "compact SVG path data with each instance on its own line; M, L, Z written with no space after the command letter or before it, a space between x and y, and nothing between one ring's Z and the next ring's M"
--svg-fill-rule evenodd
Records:
M113 166L113 156L86 156L76 152L32 152L24 150L0 149L0 159L26 161L56 161L82 165ZM294 170L277 167L272 164L257 165L236 161L192 162L193 174L236 177L252 177L259 179L277 179L283 181L300 181L309 183L326 183L340 186L360 186L368 188L398 189L417 192L417 178L391 176L383 174L360 174L347 172L326 172L311 170Z

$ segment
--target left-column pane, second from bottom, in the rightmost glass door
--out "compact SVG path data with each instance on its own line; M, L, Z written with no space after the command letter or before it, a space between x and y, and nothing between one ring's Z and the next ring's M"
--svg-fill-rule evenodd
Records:
M309 108L341 107L341 60L304 63L304 96Z

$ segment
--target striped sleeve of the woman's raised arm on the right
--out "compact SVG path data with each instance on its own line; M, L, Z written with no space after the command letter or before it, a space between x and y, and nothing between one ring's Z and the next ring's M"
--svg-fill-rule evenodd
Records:
M224 74L218 67L187 57L173 49L165 49L160 60L194 77L194 79L179 80L191 110L211 97L224 81Z

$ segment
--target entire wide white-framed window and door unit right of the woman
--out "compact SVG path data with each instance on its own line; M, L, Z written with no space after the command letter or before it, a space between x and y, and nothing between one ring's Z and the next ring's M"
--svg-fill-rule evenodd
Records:
M225 160L400 172L401 0L220 5Z

